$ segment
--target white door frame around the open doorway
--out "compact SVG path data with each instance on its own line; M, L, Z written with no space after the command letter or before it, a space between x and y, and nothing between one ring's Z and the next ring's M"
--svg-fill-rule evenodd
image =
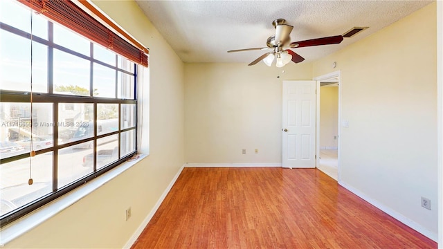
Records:
M340 165L341 165L341 77L340 71L334 71L332 73L327 73L325 75L320 75L312 78L316 80L317 89L317 107L316 107L316 167L320 165L320 82L331 80L332 78L338 79L338 124L337 124L337 182L341 180L340 178Z

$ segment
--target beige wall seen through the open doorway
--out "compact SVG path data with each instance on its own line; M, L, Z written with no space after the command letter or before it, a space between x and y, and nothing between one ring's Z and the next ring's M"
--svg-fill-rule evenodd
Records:
M338 86L320 87L320 149L338 147Z

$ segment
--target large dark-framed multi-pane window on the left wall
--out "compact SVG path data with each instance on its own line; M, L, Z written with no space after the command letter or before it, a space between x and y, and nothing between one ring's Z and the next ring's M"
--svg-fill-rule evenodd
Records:
M137 64L43 15L32 24L29 7L0 1L1 225L137 150Z

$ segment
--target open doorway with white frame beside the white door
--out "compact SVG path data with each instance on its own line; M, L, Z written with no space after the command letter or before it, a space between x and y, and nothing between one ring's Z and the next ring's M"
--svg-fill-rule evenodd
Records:
M338 181L340 73L316 77L317 81L317 160L316 167Z

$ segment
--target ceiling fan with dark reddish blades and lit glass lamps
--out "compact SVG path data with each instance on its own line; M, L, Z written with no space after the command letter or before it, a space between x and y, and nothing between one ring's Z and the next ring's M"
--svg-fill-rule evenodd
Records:
M266 46L264 48L245 48L245 49L237 49L237 50L229 50L228 53L240 52L240 51L249 51L249 50L267 50L272 49L271 52L265 53L264 55L255 59L255 61L248 64L248 66L253 66L263 60L263 62L267 66L271 66L274 58L275 58L275 66L282 67L289 62L299 63L305 60L305 58L301 57L297 53L293 52L293 50L289 48L302 48L307 46L319 46L319 45L329 45L329 44L339 44L343 41L342 35L336 35L332 37L322 37L316 39L309 39L300 42L290 42L289 34L291 34L293 26L288 24L284 24L286 20L284 19L275 19L272 22L272 25L275 28L275 35L272 35L266 40ZM284 49L284 47L289 47Z

